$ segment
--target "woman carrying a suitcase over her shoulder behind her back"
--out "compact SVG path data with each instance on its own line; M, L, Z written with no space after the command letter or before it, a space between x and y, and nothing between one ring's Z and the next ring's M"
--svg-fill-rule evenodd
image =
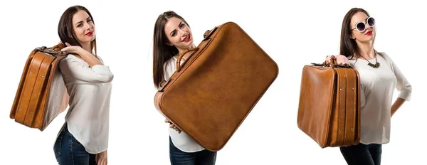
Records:
M58 24L63 52L60 61L69 98L65 124L53 150L59 164L107 164L110 111L110 68L96 55L95 24L83 6L71 6Z

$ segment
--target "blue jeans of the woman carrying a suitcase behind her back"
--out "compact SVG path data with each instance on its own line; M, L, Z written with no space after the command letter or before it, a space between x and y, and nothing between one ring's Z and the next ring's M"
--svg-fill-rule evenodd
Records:
M64 124L53 147L56 161L60 165L92 165L95 164L95 154L89 154L80 142L68 132Z

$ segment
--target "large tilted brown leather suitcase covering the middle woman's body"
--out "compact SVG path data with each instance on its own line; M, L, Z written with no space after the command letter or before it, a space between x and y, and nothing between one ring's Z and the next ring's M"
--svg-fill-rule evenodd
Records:
M179 65L183 56L189 58ZM202 147L218 151L277 76L275 61L238 24L226 22L179 55L154 105Z

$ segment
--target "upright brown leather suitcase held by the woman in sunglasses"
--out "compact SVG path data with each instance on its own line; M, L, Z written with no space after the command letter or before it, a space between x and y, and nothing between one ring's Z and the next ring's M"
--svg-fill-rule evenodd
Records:
M322 147L359 144L360 78L349 65L305 65L302 69L298 128Z

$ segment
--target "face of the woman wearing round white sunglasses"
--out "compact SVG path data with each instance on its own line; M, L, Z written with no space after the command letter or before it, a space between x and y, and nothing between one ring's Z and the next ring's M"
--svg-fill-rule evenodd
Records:
M360 43L366 43L374 40L375 38L375 21L373 18L370 18L369 20L367 20L367 18L369 18L369 16L364 14L364 12L357 12L354 14L352 21L350 22L349 28L352 29L350 37ZM358 23L361 24L358 26ZM361 31L358 31L358 28Z

